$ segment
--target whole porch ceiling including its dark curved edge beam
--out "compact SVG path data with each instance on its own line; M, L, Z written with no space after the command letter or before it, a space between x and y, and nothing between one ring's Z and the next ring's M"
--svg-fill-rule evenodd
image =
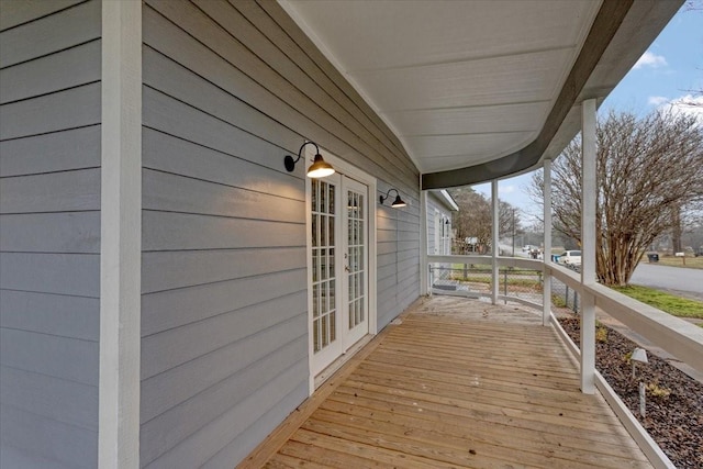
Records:
M279 1L395 133L427 189L558 154L579 129L573 107L604 98L680 5Z

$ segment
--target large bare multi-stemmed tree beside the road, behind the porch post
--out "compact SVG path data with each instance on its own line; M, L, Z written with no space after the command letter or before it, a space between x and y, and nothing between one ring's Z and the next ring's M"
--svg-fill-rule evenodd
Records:
M624 286L672 213L703 199L703 129L694 116L611 112L596 130L596 273ZM529 192L543 200L543 175ZM554 227L581 242L581 139L553 165Z

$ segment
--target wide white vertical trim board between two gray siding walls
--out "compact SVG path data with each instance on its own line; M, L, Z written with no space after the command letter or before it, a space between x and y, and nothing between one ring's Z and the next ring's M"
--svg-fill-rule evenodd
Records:
M140 467L142 2L102 2L98 467Z

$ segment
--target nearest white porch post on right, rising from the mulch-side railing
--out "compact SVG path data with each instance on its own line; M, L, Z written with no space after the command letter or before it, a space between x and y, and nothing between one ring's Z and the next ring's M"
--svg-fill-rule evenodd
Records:
M581 103L581 284L595 283L595 100ZM581 294L581 392L595 392L595 298Z

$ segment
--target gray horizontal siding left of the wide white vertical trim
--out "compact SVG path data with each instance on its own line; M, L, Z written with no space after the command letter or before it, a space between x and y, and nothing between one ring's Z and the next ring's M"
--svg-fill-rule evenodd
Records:
M0 466L92 468L101 5L0 8Z

